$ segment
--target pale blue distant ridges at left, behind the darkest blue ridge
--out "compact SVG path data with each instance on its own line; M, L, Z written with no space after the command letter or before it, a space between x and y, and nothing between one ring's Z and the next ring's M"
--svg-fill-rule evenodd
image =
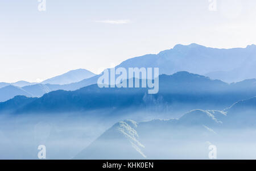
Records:
M16 95L26 95L27 97L42 97L42 95L54 90L77 90L90 85L82 84L80 81L96 76L86 69L71 70L53 78L49 78L40 83L18 81L14 83L0 83L0 102L14 98ZM95 80L95 79L94 79ZM75 84L74 84L75 83Z

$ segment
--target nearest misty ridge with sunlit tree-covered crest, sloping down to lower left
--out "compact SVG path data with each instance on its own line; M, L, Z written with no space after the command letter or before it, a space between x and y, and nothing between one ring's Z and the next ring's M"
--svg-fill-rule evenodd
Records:
M73 159L253 159L256 98L225 111L192 110L179 119L114 124Z

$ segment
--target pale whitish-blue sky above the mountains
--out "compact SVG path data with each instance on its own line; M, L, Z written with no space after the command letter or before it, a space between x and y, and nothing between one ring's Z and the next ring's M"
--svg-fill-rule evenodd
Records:
M256 44L255 0L46 0L46 11L39 3L0 1L0 82L99 73L176 44Z

